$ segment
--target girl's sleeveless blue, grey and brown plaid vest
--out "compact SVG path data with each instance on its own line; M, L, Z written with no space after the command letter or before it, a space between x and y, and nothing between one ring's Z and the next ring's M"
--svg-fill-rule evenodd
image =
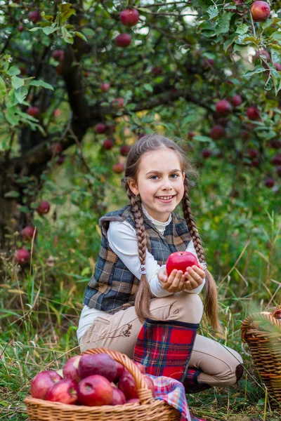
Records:
M175 251L184 251L192 241L185 220L176 213L171 213L171 222L166 226L164 234L160 234L152 222L143 215L148 251L164 265L167 258ZM84 295L84 305L115 313L134 305L136 290L140 283L124 265L107 241L107 229L110 221L126 221L135 228L131 206L127 205L115 212L107 213L100 218L102 239L95 271Z

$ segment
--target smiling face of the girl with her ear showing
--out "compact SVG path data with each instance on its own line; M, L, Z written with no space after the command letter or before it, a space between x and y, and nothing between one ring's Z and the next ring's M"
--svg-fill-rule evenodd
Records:
M141 158L136 181L129 181L133 194L139 194L143 206L155 220L166 222L183 199L183 180L178 155L172 149L157 149Z

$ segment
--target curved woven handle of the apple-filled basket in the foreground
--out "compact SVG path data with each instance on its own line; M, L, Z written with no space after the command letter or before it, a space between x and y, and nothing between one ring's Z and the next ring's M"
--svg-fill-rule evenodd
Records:
M145 383L143 374L140 370L138 370L136 364L133 363L131 359L129 359L129 356L126 356L126 354L122 354L121 352L107 348L86 349L86 351L81 352L81 355L85 354L108 354L112 356L115 361L121 363L127 370L129 370L129 373L133 376L136 382L138 398L140 399L141 404L145 405L145 403L150 403L150 401L154 399L152 396L152 391L148 389L148 385Z

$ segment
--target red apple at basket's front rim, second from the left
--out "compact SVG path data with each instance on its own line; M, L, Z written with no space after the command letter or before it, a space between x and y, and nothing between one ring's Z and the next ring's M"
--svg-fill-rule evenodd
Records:
M46 401L73 404L77 402L78 385L74 380L63 379L55 383L46 393Z

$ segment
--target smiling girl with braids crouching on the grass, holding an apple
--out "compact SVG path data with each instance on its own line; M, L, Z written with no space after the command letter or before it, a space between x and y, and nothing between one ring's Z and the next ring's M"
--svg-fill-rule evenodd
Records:
M124 187L130 204L100 218L102 239L86 287L77 336L81 352L106 347L143 363L152 375L181 380L187 393L234 385L242 358L197 335L203 306L220 329L216 284L192 218L185 152L172 140L146 135L129 152ZM174 213L183 206L184 219ZM194 253L200 266L166 274L171 253Z

